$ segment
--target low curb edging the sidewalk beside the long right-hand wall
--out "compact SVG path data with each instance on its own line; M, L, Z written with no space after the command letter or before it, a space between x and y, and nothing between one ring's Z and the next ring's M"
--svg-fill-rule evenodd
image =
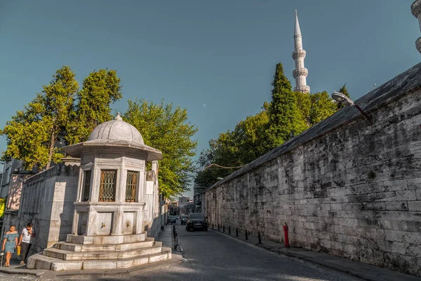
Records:
M330 268L330 269L333 269L333 270L340 271L342 273L347 273L347 274L352 275L354 277L359 277L362 280L367 280L367 281L389 280L389 279L382 279L382 276L381 275L375 275L375 274L373 274L373 275L366 275L366 274L359 273L359 272L357 272L355 270L352 270L352 269L344 268L343 266L339 266L339 265L337 266L335 264L330 264L330 263L323 263L323 262L321 262L318 259L314 259L312 257L305 256L303 254L300 254L300 253L297 253L297 252L288 250L290 248L279 249L279 248L269 247L269 246L267 246L265 244L259 244L259 243L251 242L250 240L245 240L245 239L242 239L240 237L229 235L227 233L222 233L222 232L220 232L218 230L213 230L212 228L209 228L209 230L212 230L215 233L220 233L220 234L223 234L223 235L227 235L229 237L238 239L238 240L243 241L243 242L246 242L248 244L253 244L253 245L257 246L257 247L260 247L262 249L266 249L268 251L272 251L272 252L274 252L276 254L279 254L279 255L288 256L288 257L292 257L292 258L297 258L297 259L301 259L303 261L308 261L310 263L314 263L314 264L317 264L319 266L323 266L325 268ZM312 251L312 250L308 250L308 251ZM338 257L338 258L340 258L340 257ZM341 258L341 259L345 259L345 258ZM352 261L352 260L348 260L348 259L346 259L346 260L347 261ZM352 261L352 262L358 262L358 261ZM363 263L363 264L366 265L366 263ZM373 265L369 265L369 264L367 264L367 265L368 266L373 266ZM382 270L389 270L389 269L382 268ZM390 271L392 271L394 273L396 272L394 270L390 270ZM399 271L398 271L398 273L399 273ZM403 275L403 277L406 277L406 280L408 280L408 281L410 281L410 280L414 280L414 281L415 280L420 280L421 281L421 278L419 278L419 277L416 277L416 276L413 276L413 275L408 275L406 273L401 273L401 274ZM385 272L385 275L387 275L386 272Z

